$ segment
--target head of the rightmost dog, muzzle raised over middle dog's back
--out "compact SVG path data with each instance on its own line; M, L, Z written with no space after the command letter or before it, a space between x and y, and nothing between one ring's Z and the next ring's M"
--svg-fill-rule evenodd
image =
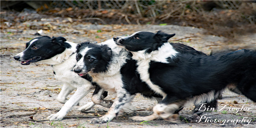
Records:
M161 47L164 43L174 36L175 34L166 34L158 31L152 32L135 32L131 36L117 36L114 37L115 43L131 52L146 50L152 52Z

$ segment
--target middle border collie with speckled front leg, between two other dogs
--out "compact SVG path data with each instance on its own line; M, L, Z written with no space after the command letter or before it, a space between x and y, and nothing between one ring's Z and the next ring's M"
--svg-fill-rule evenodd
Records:
M196 51L194 48L184 44L171 43L171 45L181 53L191 55L206 56L203 52ZM131 59L131 54L126 50L117 47L113 42L101 45L80 43L77 45L76 66L74 72L79 76L89 74L92 81L96 82L106 91L117 93L116 99L108 111L108 114L100 118L94 118L91 123L106 123L119 114L121 108L129 103L136 93L141 93L147 98L156 98L161 101L162 95L152 91L145 82L140 80L140 75L136 72L136 60ZM208 103L215 108L217 101ZM198 106L199 107L199 106ZM178 113L179 108L176 110ZM200 113L196 114L200 115ZM134 116L133 120L155 120L160 119L158 115Z

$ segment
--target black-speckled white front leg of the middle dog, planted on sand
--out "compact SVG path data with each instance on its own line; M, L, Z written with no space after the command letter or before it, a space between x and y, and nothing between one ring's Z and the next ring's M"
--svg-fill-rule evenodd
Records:
M108 121L111 121L113 118L115 118L121 109L124 107L126 103L129 103L135 95L130 95L125 90L122 90L116 93L116 100L108 110L108 113L100 118L94 118L90 121L90 123L107 123Z

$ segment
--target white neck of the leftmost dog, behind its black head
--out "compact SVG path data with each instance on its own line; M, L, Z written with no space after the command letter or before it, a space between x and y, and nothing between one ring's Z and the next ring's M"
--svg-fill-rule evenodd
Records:
M66 43L70 44L71 48L66 48L64 52L57 54L50 59L41 60L41 62L50 65L59 65L64 61L71 59L72 56L76 56L76 44L68 41L66 41Z

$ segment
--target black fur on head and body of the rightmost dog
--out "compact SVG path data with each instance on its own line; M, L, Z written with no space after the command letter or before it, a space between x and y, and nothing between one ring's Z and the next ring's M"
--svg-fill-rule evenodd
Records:
M135 39L136 35L139 38ZM139 32L134 36L114 40L116 44L135 54L139 54L137 51L141 50L155 51L159 48L158 44L161 46L166 43L166 38L159 36L159 32ZM158 39L144 40L145 38ZM212 56L195 56L180 52L169 59L169 63L151 61L148 72L150 81L167 94L161 102L166 105L186 101L203 93L222 91L228 85L232 85L233 89L256 102L256 51L253 50L218 53Z

